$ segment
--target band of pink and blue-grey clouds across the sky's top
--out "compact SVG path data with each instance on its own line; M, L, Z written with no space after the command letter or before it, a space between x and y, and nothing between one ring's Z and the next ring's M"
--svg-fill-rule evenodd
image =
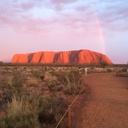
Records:
M69 3L76 3L70 4ZM55 26L70 30L84 30L96 24L96 14L106 28L127 29L128 6L123 2L110 0L49 0L0 3L0 23L14 29L29 32L52 31ZM121 5L121 6L120 6ZM102 7L102 8L100 8ZM101 10L102 9L102 10ZM35 10L40 10L35 12ZM54 14L54 15L53 15ZM85 29L81 29L85 28Z

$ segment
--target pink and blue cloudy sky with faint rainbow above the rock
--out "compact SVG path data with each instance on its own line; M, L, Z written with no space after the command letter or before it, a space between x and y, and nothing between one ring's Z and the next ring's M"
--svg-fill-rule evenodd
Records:
M0 0L0 61L88 49L128 62L127 0Z

